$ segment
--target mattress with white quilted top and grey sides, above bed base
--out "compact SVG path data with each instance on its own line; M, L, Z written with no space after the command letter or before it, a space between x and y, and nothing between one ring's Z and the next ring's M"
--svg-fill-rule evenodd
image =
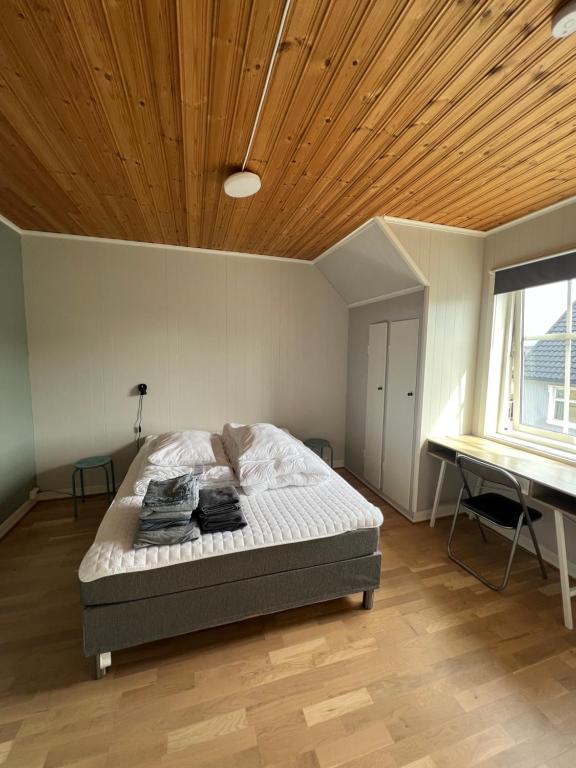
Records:
M240 491L240 504L247 522L247 526L239 531L226 531L224 533L204 534L199 539L186 544L148 547L135 550L132 547L134 534L138 525L138 514L142 504L142 495L136 494L135 483L142 474L147 463L147 455L151 450L151 441L147 441L140 453L132 463L116 498L106 512L96 534L94 543L84 556L79 569L79 577L82 583L82 594L85 603L114 602L127 599L126 594L118 591L111 582L103 580L124 574L140 574L140 578L131 579L133 582L132 595L129 599L136 599L134 588L143 584L145 572L157 571L168 566L182 566L184 564L198 563L211 558L217 558L213 565L216 573L223 568L232 574L236 563L240 558L228 561L228 565L222 565L222 556L239 555L265 548L282 547L278 552L279 568L290 567L294 563L294 553L287 551L287 545L297 545L313 540L329 540L323 543L320 561L332 548L334 561L338 559L337 552L341 547L350 552L352 557L374 552L377 549L378 528L383 522L381 511L370 504L363 496L355 491L338 474L331 471L328 482L317 486L304 488L282 488L279 490L265 491L257 496L246 496ZM344 536L354 532L367 532L354 538ZM342 538L341 538L342 537ZM348 547L350 547L348 549ZM310 550L310 561L306 564L314 564L314 547ZM274 552L257 556L255 562L273 561ZM302 562L302 561L299 561ZM244 566L246 567L246 564ZM302 567L293 565L292 567ZM176 571L170 568L170 574ZM184 569L178 569L184 573ZM196 569L198 572L198 569ZM261 571L262 572L262 571ZM194 569L184 578L187 584L194 580ZM236 571L237 574L237 571ZM158 574L156 573L157 577ZM238 578L236 575L235 578ZM100 581L101 584L92 584ZM118 580L115 580L118 581ZM147 580L150 581L150 580ZM200 586L194 582L196 586ZM214 582L212 582L214 583ZM98 589L98 586L101 589ZM190 586L180 588L189 589ZM170 589L168 584L164 591ZM128 590L130 591L130 590ZM106 593L108 598L106 598ZM145 593L145 595L144 595ZM150 592L144 589L142 596L149 596ZM160 594L156 591L154 594ZM115 597L116 596L116 597Z

